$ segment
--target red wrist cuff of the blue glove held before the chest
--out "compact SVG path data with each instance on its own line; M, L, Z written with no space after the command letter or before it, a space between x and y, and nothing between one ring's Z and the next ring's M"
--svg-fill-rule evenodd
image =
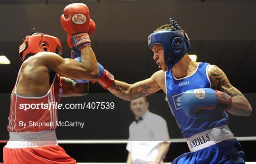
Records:
M218 105L217 107L228 111L232 106L232 98L227 93L221 92L219 90L214 90L217 96Z

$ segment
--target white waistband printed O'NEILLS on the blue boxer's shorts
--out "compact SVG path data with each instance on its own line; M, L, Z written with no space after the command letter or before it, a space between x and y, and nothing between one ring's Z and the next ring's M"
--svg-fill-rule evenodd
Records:
M191 152L210 147L223 140L234 139L234 134L227 125L218 126L207 131L202 131L187 138L187 144Z

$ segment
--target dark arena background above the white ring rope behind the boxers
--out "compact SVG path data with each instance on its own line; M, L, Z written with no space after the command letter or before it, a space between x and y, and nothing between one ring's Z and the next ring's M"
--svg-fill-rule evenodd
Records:
M11 65L0 65L0 139L8 139L9 93L21 61L18 47L33 27L62 41L63 57L70 57L60 16L66 5L85 3L95 21L91 36L97 60L120 81L134 83L158 70L147 36L174 18L188 33L200 62L219 66L229 81L256 107L256 1L255 0L0 0L0 55ZM29 84L28 84L29 85ZM181 132L162 91L148 97L150 110L165 118L171 138ZM62 103L115 102L115 109L59 111L61 121L84 121L84 128L58 128L58 139L128 139L133 121L129 102L91 84L90 94L63 98ZM249 117L231 116L235 136L256 136L254 111Z

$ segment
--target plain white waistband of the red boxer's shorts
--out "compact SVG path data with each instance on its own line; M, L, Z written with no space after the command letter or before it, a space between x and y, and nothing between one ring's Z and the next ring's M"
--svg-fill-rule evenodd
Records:
M26 148L46 145L58 145L55 130L9 132L6 148Z

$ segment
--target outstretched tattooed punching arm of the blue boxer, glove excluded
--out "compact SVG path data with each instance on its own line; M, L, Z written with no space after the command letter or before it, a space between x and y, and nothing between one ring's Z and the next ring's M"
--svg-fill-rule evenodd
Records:
M108 88L112 94L127 101L148 96L160 89L161 88L157 83L157 72L150 78L134 84L115 80L112 87Z

